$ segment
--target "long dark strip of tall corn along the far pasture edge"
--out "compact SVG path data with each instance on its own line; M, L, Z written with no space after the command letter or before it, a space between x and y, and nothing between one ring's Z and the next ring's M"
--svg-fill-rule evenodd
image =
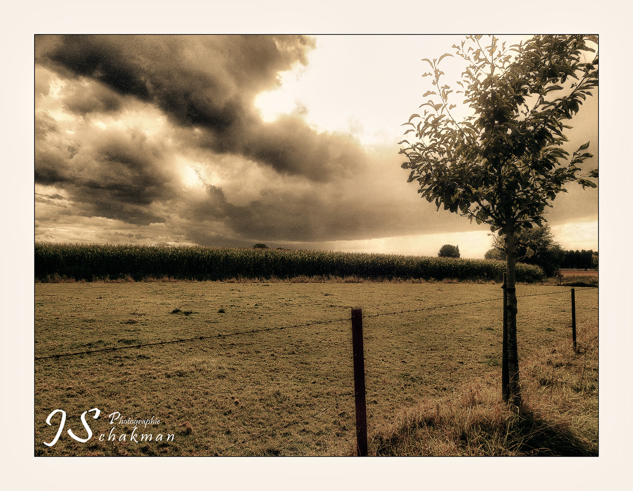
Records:
M494 280L505 262L273 249L229 249L143 245L75 245L35 243L35 279L66 277L96 281L130 277L134 281L170 277L181 280L292 279L357 277L359 279ZM544 277L533 265L517 264L517 281Z

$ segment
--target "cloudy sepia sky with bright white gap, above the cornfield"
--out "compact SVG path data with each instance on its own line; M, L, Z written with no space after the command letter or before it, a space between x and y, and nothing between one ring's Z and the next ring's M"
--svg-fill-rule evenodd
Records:
M489 227L420 198L398 154L422 59L461 39L36 35L35 241L483 258ZM442 61L449 85L459 61ZM586 171L597 99L565 147L591 142ZM598 250L598 190L567 190L546 215L556 240Z

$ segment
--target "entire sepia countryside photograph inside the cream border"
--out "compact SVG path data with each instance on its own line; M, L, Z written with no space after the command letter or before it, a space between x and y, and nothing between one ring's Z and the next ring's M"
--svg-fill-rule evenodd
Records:
M597 35L34 54L35 456L598 455Z

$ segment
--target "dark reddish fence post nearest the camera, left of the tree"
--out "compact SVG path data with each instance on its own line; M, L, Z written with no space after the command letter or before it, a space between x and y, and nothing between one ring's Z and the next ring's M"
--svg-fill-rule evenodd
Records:
M365 405L365 353L363 350L363 310L352 309L352 351L354 355L354 402L356 403L356 450L367 456L367 406Z

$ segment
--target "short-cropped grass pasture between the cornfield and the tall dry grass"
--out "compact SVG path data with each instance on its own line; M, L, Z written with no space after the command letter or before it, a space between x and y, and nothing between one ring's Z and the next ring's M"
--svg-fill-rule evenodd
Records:
M520 358L568 343L568 291L517 286ZM372 439L407 408L501 378L501 296L498 284L451 282L35 284L35 358L227 335L35 360L35 455L350 454L351 323L313 323L348 319L351 308L392 313L363 318ZM577 288L576 309L579 330L597 325L598 289ZM291 327L301 324L311 325ZM229 336L279 327L287 329ZM73 440L66 430L85 439L80 416L92 408L101 411L85 416L94 435ZM61 416L50 426L46 418L55 409L67 418L49 447ZM114 424L111 413L121 415ZM135 442L123 418L160 423L138 427Z

